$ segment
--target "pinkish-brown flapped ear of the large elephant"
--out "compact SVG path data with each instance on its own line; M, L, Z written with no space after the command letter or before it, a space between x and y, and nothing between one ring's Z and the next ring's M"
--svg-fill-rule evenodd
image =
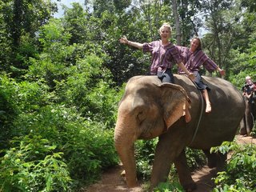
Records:
M186 114L186 107L190 108L191 101L182 86L168 82L158 86L162 91L163 118L167 129L169 129L174 122Z

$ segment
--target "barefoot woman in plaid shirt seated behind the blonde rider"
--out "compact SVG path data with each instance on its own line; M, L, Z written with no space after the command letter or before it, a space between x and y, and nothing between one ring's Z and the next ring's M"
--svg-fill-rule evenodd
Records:
M201 75L199 74L200 67L204 66L209 72L218 70L222 76L225 75L225 70L220 69L217 64L202 51L202 42L198 37L192 39L190 48L184 46L177 47L182 56L182 62L185 63L187 70L194 73L194 82L198 86L198 90L202 91L202 96L206 101L206 113L210 113L211 104L208 96L208 90L210 90L210 88L202 82ZM179 74L184 74L185 72L181 69L178 70Z

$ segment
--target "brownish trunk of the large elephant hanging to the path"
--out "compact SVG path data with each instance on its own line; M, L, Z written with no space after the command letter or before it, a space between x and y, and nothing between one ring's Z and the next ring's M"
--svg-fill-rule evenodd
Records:
M126 184L128 187L138 186L134 157L135 139L135 133L132 134L126 126L120 126L120 123L117 123L114 130L114 143L126 171Z

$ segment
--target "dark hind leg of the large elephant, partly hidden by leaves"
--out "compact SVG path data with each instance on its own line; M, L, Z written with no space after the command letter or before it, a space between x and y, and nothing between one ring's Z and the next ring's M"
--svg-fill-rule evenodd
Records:
M207 166L210 168L216 167L217 171L224 170L226 166L226 154L222 153L210 153L210 150L203 150L208 160Z

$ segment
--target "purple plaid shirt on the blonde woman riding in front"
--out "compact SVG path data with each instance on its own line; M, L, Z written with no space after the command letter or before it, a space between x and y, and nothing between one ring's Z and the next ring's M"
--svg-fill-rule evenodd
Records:
M162 46L160 41L144 43L143 52L151 54L150 74L157 74L158 70L171 69L175 63L182 62L177 47L171 43L168 46Z

